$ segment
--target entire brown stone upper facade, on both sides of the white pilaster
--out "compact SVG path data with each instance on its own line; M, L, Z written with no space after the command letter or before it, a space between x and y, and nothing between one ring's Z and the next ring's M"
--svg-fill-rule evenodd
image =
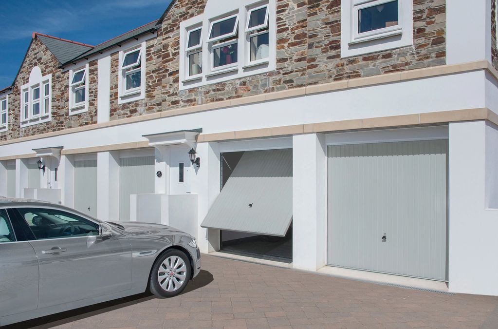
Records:
M445 0L413 0L413 45L341 58L341 1L276 1L276 69L179 91L180 22L200 15L207 0L176 0L146 41L145 98L118 104L118 50L111 55L110 119L446 64ZM496 33L495 33L496 34ZM496 42L495 42L496 44ZM496 54L496 48L494 48ZM494 56L496 58L496 56ZM52 73L52 120L19 128L20 91L34 65ZM0 141L97 123L97 61L90 63L89 111L69 116L68 72L35 38L9 97L9 131Z

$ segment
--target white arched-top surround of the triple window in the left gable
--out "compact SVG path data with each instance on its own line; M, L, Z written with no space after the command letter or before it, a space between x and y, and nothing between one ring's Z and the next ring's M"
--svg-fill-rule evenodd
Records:
M48 112L45 111L44 108L44 100L45 100L45 94L44 94L44 85L48 84L48 90L49 90L49 95L48 95ZM40 88L40 114L33 116L32 115L32 106L33 106L33 100L32 100L32 88L39 86ZM24 92L28 91L28 117L24 117ZM48 122L52 119L52 74L47 74L45 76L41 75L41 70L38 66L33 67L31 70L31 73L29 74L29 82L22 85L20 88L20 127L29 127L33 125L37 125L43 122ZM42 105L43 104L43 105ZM46 112L46 113L45 113Z

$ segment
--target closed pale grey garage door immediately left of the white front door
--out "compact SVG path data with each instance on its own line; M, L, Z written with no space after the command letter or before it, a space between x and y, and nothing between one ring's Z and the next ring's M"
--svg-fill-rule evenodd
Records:
M120 220L129 220L130 194L154 193L154 157L120 159Z

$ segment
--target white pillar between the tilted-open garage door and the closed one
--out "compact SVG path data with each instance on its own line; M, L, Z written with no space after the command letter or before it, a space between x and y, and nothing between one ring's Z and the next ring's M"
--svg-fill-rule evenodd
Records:
M292 265L317 270L327 262L325 135L292 138Z

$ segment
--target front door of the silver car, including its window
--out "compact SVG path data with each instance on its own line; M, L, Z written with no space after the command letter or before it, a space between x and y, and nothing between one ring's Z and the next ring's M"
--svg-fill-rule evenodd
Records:
M38 308L45 308L131 288L131 247L119 232L99 236L99 224L55 207L19 207L36 240Z

